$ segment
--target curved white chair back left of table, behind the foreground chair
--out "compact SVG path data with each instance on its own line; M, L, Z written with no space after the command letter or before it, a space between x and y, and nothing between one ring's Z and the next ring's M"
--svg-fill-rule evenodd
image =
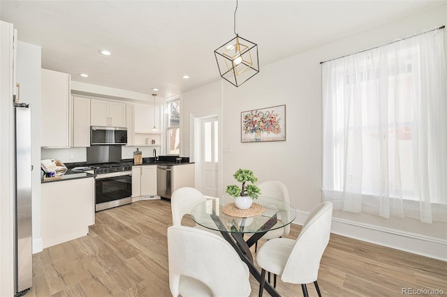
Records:
M194 206L206 200L205 196L195 188L184 187L175 190L170 199L173 226L181 225L183 216L190 214Z

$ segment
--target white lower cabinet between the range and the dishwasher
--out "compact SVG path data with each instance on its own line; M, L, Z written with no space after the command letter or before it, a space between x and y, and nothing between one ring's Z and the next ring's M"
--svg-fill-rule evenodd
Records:
M132 167L132 197L156 195L156 165Z

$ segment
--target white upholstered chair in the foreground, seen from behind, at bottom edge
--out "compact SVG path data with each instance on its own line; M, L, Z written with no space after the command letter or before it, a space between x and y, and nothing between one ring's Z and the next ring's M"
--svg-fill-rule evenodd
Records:
M169 287L174 297L246 297L249 268L233 247L210 232L168 228Z

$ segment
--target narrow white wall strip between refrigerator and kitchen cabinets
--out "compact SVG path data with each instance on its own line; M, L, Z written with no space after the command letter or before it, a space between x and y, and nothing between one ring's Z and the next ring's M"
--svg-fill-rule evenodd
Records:
M17 41L17 83L20 102L31 107L31 172L33 251L42 250L41 232L41 47Z

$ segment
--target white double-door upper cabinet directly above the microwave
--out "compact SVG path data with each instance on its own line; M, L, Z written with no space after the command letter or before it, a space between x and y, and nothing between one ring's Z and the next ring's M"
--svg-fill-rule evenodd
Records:
M126 103L91 99L91 125L126 127Z

